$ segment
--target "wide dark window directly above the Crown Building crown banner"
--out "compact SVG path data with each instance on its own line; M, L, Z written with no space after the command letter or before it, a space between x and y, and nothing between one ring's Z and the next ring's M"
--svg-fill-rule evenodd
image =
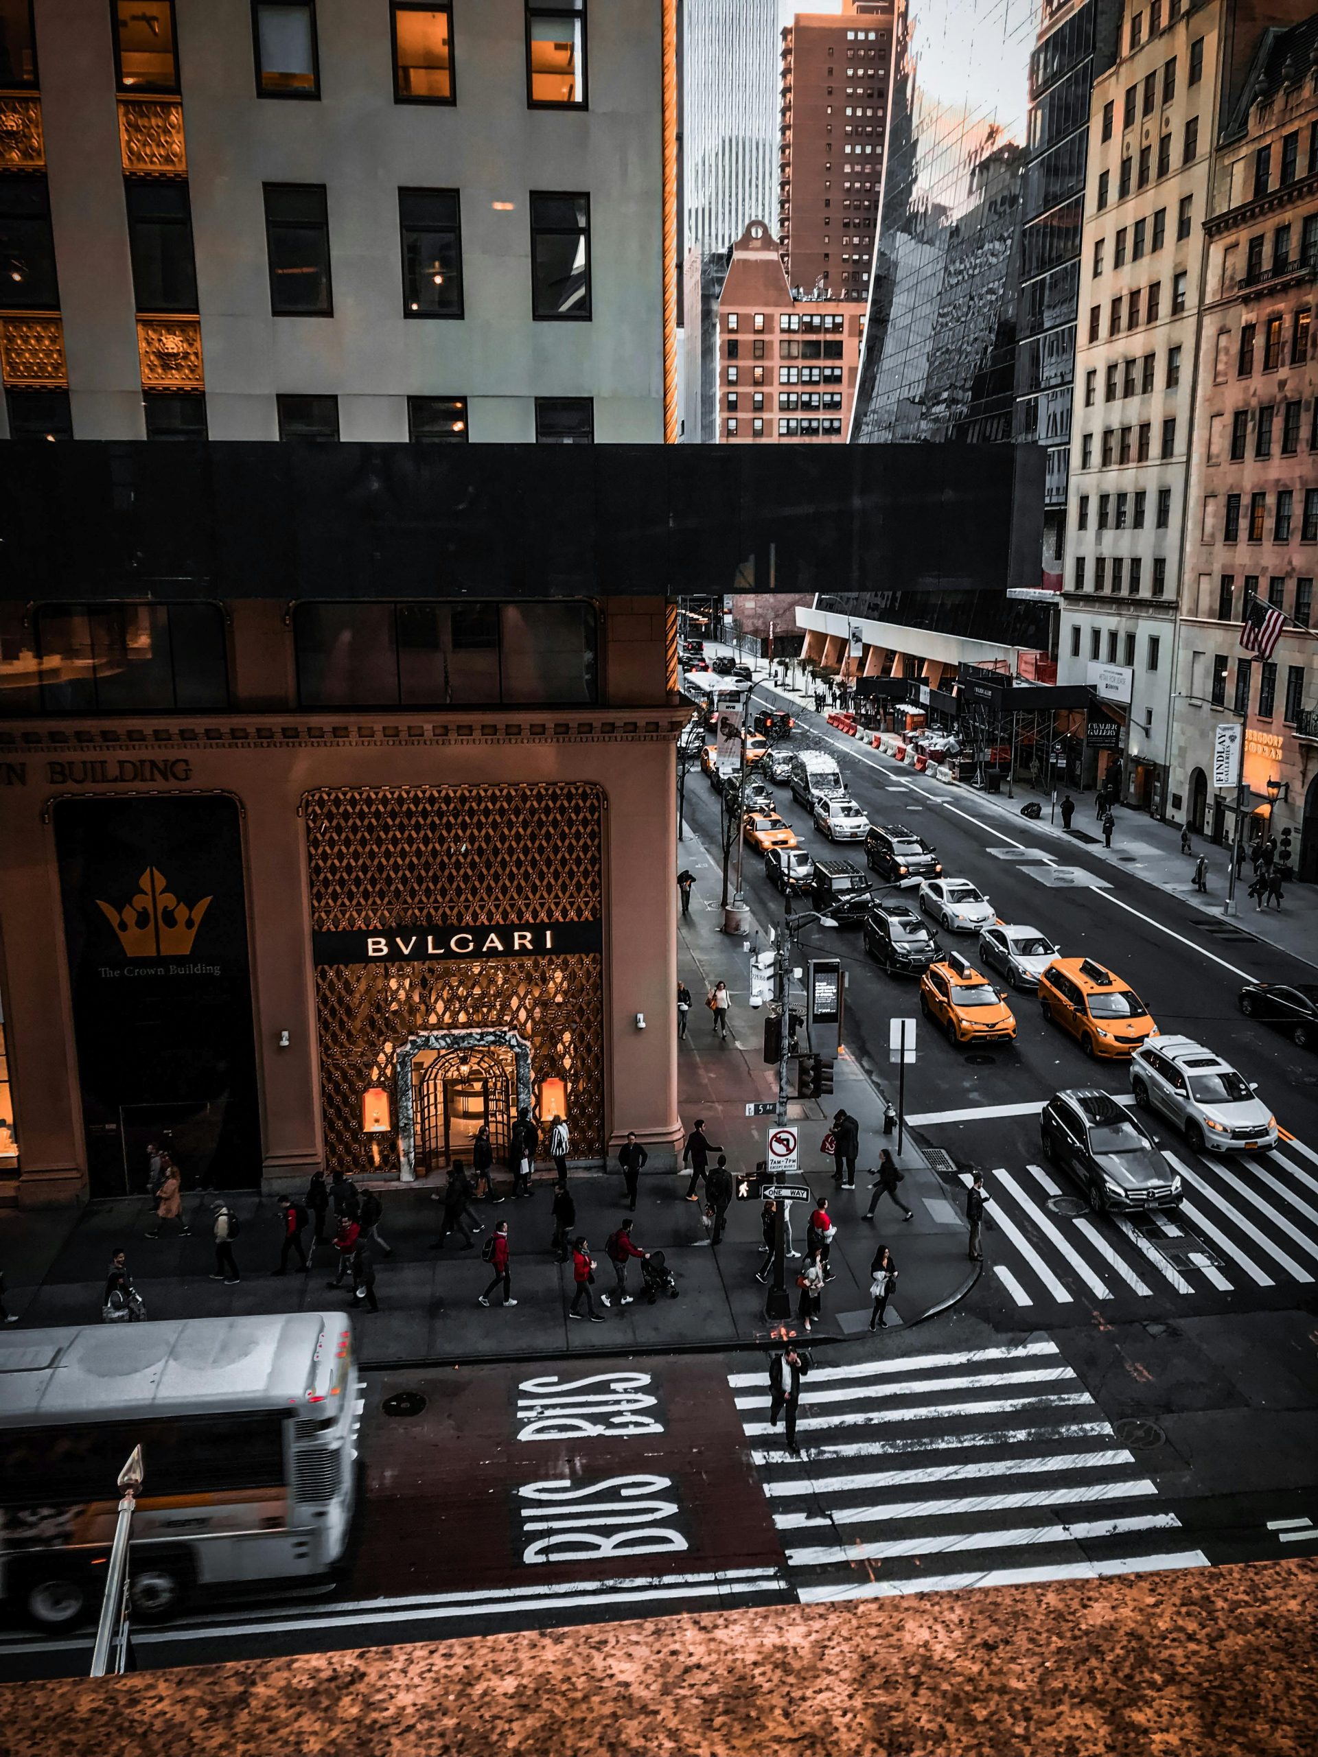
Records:
M42 604L35 643L46 713L228 706L218 604Z

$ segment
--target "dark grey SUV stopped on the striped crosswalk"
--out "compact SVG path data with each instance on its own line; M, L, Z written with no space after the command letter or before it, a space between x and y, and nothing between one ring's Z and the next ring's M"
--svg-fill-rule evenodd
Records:
M1111 1093L1075 1088L1054 1093L1039 1117L1044 1158L1104 1209L1174 1209L1181 1177L1158 1144Z

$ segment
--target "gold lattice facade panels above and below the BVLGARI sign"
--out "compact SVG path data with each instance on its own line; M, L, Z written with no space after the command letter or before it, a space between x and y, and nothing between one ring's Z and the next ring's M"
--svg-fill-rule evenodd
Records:
M315 929L603 914L599 787L323 787L302 810ZM603 973L597 952L318 968L327 1170L366 1165L362 1093L394 1093L395 1051L445 1030L524 1037L534 1086L568 1088L573 1158L603 1156ZM397 1170L397 1142L374 1140Z

